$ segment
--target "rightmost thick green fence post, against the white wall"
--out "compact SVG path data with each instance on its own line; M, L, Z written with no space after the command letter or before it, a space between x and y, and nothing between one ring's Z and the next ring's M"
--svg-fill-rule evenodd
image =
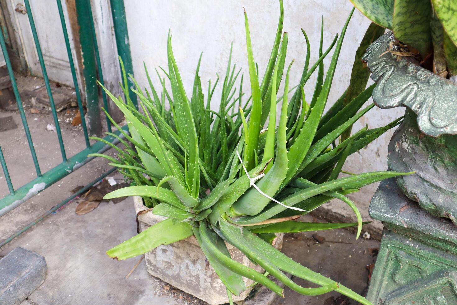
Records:
M124 63L125 71L133 75L132 55L130 54L130 42L128 40L127 19L125 16L124 0L110 0L111 13L113 16L114 35L116 36L117 54ZM124 80L122 79L122 82ZM137 96L130 89L133 87L133 82L130 78L127 79L128 95L135 107L137 105ZM126 86L126 84L124 84Z

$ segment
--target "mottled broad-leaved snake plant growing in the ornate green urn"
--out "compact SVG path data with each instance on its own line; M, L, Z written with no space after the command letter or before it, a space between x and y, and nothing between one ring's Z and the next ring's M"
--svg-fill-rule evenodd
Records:
M432 69L442 77L457 75L457 1L350 0L371 21L393 30L406 46L404 56L433 58Z

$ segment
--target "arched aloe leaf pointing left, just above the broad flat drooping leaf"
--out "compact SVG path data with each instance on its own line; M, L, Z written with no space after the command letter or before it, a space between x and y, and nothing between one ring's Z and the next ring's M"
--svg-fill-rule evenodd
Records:
M118 197L126 197L126 196L144 196L144 197L151 197L158 199L160 201L170 203L174 205L176 208L184 209L189 211L184 204L181 203L179 198L176 196L173 191L168 190L163 187L155 187L155 186L146 186L146 185L137 185L132 187L123 187L119 188L111 193L107 193L103 196L103 199L112 199Z

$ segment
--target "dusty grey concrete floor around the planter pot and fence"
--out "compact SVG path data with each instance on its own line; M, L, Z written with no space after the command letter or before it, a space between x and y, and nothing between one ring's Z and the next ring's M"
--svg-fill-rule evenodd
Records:
M31 108L26 104L32 139L44 172L61 162L57 136L55 132L46 129L48 123L53 123L50 113L32 113ZM74 109L59 112L68 156L79 152L84 143L81 127L72 126L70 123L74 115ZM0 118L8 116L12 117L18 127L0 132L0 143L13 185L17 188L36 176L31 170L32 159L19 114L16 111L0 111ZM101 158L91 161L89 165L0 217L0 240L69 197L70 190L74 187L85 185L100 176L110 167L106 163L106 160ZM0 173L0 197L7 193L5 178L3 173ZM333 204L327 204L323 210L334 210ZM117 262L106 256L106 250L136 234L135 215L130 198L117 204L101 202L94 211L80 216L74 213L75 206L76 202L67 204L0 250L0 256L4 256L16 246L23 246L46 258L47 279L23 305L204 304L149 275L144 261L141 261L138 268L126 279L125 276L138 261L138 257ZM306 220L313 221L313 218L307 216ZM314 233L316 232L287 235L283 251L304 266L362 293L367 286L366 266L375 259L367 251L369 248L378 247L379 242L364 239L355 241L355 235L341 229L318 232L317 234L329 241L318 244L312 238ZM306 286L306 283L294 280ZM285 296L285 299L276 299L275 304L342 304L339 303L341 300L331 299L338 297L336 293L307 297L286 289Z

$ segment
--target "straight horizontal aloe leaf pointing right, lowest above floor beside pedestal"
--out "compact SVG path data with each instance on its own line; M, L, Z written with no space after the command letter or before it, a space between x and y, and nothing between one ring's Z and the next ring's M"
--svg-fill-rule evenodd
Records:
M366 221L363 225L369 224L371 221ZM316 222L301 222L294 220L287 220L278 222L271 225L262 225L257 227L247 227L252 233L265 234L265 233L296 233L305 231L319 231L319 230L332 230L356 226L356 222L348 223L316 223Z

